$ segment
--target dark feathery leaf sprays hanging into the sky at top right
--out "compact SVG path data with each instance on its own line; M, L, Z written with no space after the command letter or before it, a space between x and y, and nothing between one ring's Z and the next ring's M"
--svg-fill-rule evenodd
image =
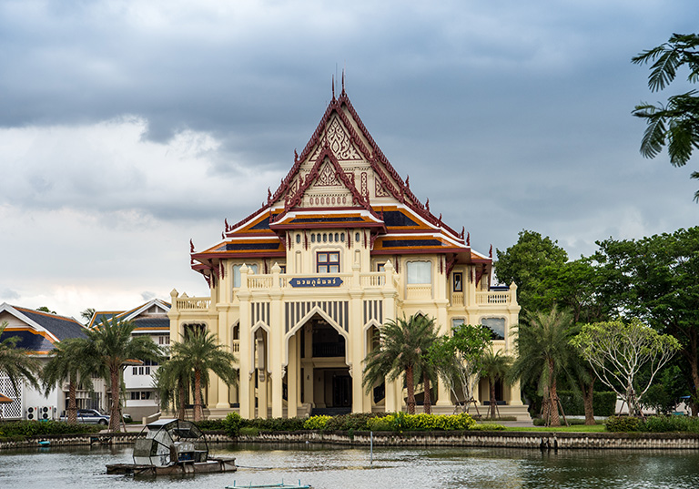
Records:
M648 87L652 92L663 90L677 75L677 70L689 69L687 80L699 80L699 36L674 34L668 42L632 58L637 65L652 63ZM684 167L695 148L699 148L699 97L696 90L668 97L666 105L653 106L643 102L633 110L635 117L645 119L647 127L641 142L641 154L655 158L667 146L670 163ZM699 178L694 171L692 178ZM699 201L699 191L694 194Z

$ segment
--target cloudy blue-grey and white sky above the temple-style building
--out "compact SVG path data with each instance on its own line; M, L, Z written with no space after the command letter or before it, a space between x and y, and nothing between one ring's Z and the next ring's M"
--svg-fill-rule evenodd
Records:
M351 5L351 6L347 6ZM177 288L257 209L346 87L434 213L572 258L694 226L696 161L644 159L630 58L695 0L0 2L0 302L79 317ZM686 74L681 74L685 77Z

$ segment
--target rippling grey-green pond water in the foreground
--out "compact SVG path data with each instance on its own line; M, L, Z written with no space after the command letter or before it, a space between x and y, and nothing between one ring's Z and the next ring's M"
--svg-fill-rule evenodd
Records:
M697 451L541 453L491 448L368 448L304 445L213 445L235 456L237 473L137 479L106 475L106 464L130 463L130 448L46 448L0 452L0 487L12 489L217 488L312 484L316 489L390 488L668 488L699 487Z

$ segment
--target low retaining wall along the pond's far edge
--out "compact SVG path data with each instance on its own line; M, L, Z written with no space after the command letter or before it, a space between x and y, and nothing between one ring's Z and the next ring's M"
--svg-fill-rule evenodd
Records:
M131 444L137 433L99 433L35 437L22 442L2 442L3 448L35 448L46 440L50 446ZM331 443L368 446L369 432L262 432L258 436L229 438L207 433L208 443ZM553 433L553 432L416 432L373 433L375 446L464 446L529 449L699 449L699 434L684 433Z

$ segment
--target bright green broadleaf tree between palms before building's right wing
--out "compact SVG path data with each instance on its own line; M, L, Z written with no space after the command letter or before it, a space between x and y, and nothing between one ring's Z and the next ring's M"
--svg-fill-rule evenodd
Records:
M464 412L473 401L473 390L480 378L482 353L491 344L491 331L482 326L461 324L451 335L440 336L430 347L429 358L441 382L457 402L463 396Z

